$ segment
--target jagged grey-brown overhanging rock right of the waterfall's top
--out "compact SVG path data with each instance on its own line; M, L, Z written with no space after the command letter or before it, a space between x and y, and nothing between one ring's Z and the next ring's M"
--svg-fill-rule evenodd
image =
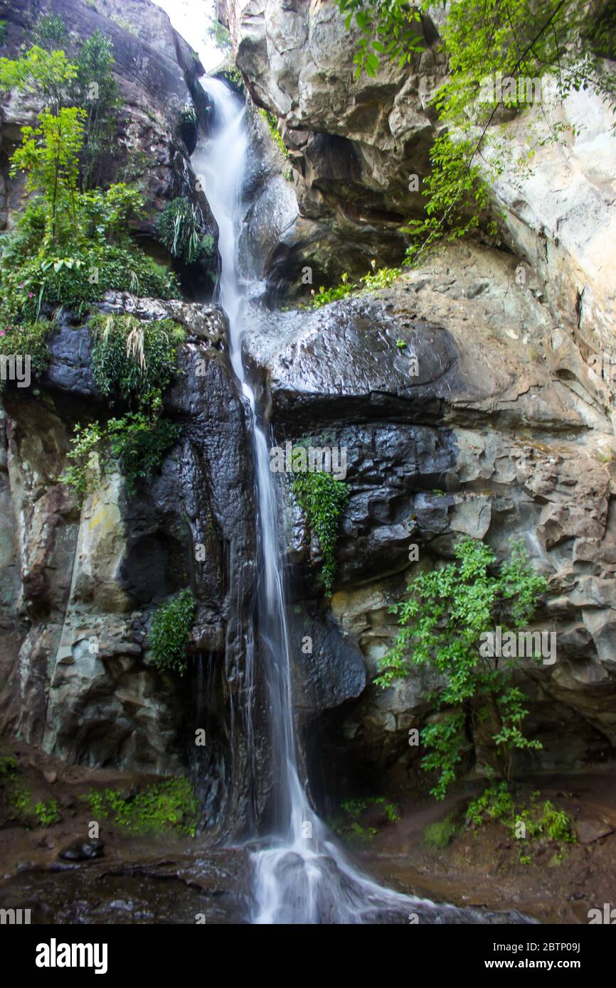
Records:
M365 274L399 261L397 227L418 215L408 175L425 175L433 139L426 113L443 76L433 47L410 74L385 65L355 78L355 27L333 4L219 0L251 96L284 124L300 206L297 243L315 278ZM436 39L431 23L424 30Z

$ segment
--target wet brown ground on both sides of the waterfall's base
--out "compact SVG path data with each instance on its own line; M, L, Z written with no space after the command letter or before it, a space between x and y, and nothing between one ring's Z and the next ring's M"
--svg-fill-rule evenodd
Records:
M87 838L91 813L80 795L93 785L130 790L156 777L65 766L26 745L11 749L35 799L54 798L62 819L26 830L0 820L0 907L31 909L33 923L241 924L249 922L248 849L221 849L205 836L134 838L102 825L104 857L65 862L58 852ZM590 908L616 905L616 779L613 775L537 781L575 818L577 843L565 849L537 843L532 863L520 864L516 842L497 824L474 838L462 831L449 847L423 842L425 827L466 800L459 791L443 804L409 801L396 824L379 829L352 854L364 870L399 892L451 903L465 912L423 910L419 922L587 923ZM530 786L529 786L530 787ZM557 854L556 852L559 851ZM408 923L407 911L378 923Z

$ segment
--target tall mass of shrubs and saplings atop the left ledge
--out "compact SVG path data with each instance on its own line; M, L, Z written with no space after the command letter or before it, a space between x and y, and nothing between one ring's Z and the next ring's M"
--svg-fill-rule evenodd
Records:
M40 45L17 59L0 58L0 88L32 92L44 102L38 125L22 128L11 158L11 174L24 172L29 192L39 195L17 229L2 236L5 328L37 320L44 303L81 313L113 288L178 294L174 277L132 244L129 222L143 205L138 192L123 183L79 191L91 185L113 124L112 65L110 42L99 33L82 44L75 63ZM87 109L66 105L75 100Z

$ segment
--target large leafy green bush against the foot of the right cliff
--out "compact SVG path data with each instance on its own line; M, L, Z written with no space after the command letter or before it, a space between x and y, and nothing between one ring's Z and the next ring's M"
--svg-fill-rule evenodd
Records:
M381 674L375 681L387 689L407 676L411 666L423 665L446 680L434 697L438 716L421 732L428 749L422 768L439 773L430 790L437 799L444 798L456 778L471 726L489 726L505 780L511 778L515 749L541 747L521 730L528 711L524 694L512 682L516 660L483 657L480 640L495 624L503 633L525 627L547 582L535 573L519 544L498 568L491 549L473 538L459 542L455 555L455 562L416 576L407 600L391 608L400 631L380 660Z

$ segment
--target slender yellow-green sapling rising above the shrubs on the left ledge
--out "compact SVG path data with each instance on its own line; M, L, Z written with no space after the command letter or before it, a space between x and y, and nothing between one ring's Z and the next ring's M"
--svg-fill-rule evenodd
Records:
M43 193L47 207L46 233L52 246L58 239L59 226L64 228L64 210L68 210L72 230L76 231L75 196L85 116L85 111L78 107L66 107L57 114L44 110L38 127L22 127L23 143L11 158L11 175L26 172L28 190ZM59 206L62 215L58 222Z

